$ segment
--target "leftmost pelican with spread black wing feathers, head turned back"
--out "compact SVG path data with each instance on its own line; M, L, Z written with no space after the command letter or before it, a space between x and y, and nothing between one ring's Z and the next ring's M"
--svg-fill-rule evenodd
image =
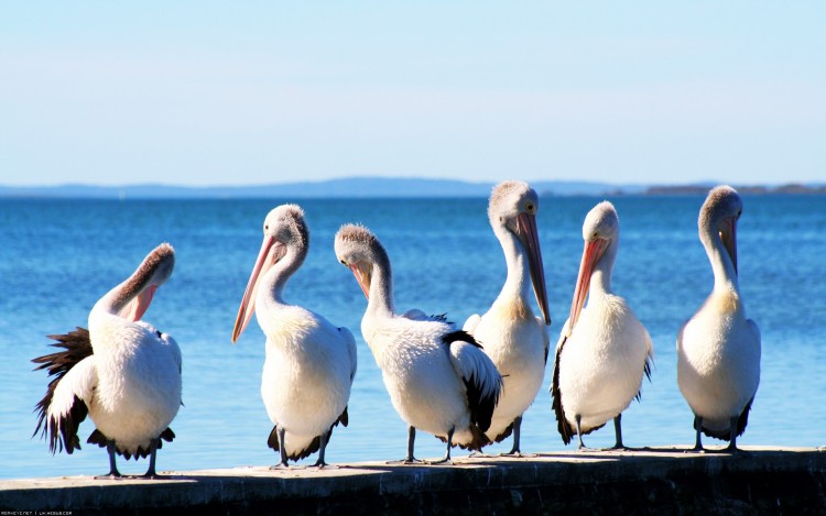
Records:
M175 340L140 320L159 286L172 274L175 251L163 243L89 314L89 329L50 336L63 351L34 359L55 376L37 404L52 453L80 449L77 430L88 414L96 429L87 442L106 447L109 473L120 477L115 455L150 457L144 477L155 477L161 439L181 406L181 350Z

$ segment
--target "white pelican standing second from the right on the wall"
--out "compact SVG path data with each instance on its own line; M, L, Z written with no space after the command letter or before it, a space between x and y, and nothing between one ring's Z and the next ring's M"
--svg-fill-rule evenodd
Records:
M622 410L639 399L642 375L650 377L653 348L649 332L626 300L611 292L611 271L619 249L619 218L608 201L588 212L583 224L585 249L579 275L556 344L552 384L553 408L562 440L601 428L613 418L617 443L623 449ZM589 294L590 293L590 294ZM588 306L585 298L588 296Z

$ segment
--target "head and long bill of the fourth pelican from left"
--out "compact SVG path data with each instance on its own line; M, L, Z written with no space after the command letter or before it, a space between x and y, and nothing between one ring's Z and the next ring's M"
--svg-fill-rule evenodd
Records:
M502 182L493 188L488 204L488 219L493 232L503 231L517 237L528 254L531 283L536 303L542 310L545 325L551 325L551 312L547 307L545 289L545 270L542 264L542 250L536 230L536 211L540 199L528 183L521 180Z

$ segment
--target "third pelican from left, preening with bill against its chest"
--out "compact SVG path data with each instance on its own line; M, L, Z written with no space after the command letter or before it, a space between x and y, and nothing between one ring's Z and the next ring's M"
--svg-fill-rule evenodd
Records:
M409 425L407 455L415 462L416 428L447 442L438 462L450 461L450 448L479 450L487 444L502 378L474 338L438 317L393 311L390 259L379 240L360 226L336 234L336 256L349 267L368 304L361 319L365 336L393 407Z

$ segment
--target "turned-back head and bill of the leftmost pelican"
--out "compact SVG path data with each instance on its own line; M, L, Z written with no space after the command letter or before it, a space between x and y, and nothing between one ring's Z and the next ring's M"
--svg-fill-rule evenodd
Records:
M112 292L111 306L119 317L138 321L152 304L157 287L166 283L175 268L175 250L169 243L153 249L129 278ZM101 299L104 301L104 299Z

